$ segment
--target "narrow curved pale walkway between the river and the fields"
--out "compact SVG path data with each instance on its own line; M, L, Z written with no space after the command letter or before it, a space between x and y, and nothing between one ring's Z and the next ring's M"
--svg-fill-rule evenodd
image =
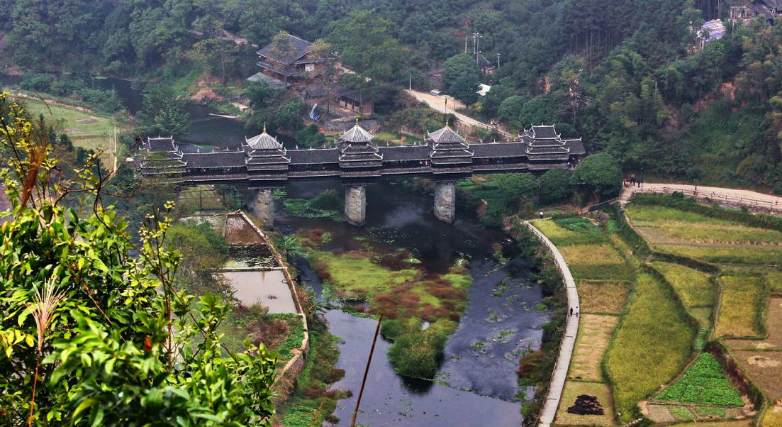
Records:
M554 255L554 260L557 262L559 271L562 274L562 278L565 280L565 291L568 294L568 307L579 307L579 293L576 291L576 281L573 280L573 275L570 274L568 264L565 263L565 258L559 253L557 246L551 242L543 233L540 232L529 221L524 221L524 224L529 227L538 236L541 242L543 242L551 254ZM570 367L570 357L573 354L573 347L576 346L576 335L579 332L579 317L569 316L568 321L565 324L565 335L562 337L562 341L559 346L559 356L557 357L557 364L554 364L554 372L551 375L551 385L548 387L548 395L546 401L543 402L543 408L540 409L540 420L538 425L540 427L549 427L551 422L554 422L554 415L557 414L557 408L559 407L559 399L562 396L562 389L565 389L565 379L568 378L568 368Z

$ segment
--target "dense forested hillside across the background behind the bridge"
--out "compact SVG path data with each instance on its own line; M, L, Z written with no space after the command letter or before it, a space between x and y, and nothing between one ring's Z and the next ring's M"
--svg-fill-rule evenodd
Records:
M472 33L500 66L471 113L518 130L556 122L623 170L782 192L782 22L733 26L716 0L0 0L0 65L175 79L241 79L280 30L332 42L360 74L432 88ZM719 7L718 7L719 6ZM723 18L705 48L697 29ZM249 41L239 46L229 31ZM74 55L79 52L79 55ZM452 62L456 62L455 60ZM472 80L471 80L472 79ZM457 79L458 81L458 79ZM447 90L459 94L457 81ZM461 92L464 92L463 90ZM465 99L471 103L472 99Z

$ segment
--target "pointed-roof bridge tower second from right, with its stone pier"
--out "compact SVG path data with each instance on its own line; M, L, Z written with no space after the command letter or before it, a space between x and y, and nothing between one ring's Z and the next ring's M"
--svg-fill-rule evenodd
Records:
M432 163L432 174L436 177L435 217L439 221L451 223L456 217L454 174L472 172L473 152L465 138L451 129L447 122L442 129L427 133L427 145L431 150L429 160Z

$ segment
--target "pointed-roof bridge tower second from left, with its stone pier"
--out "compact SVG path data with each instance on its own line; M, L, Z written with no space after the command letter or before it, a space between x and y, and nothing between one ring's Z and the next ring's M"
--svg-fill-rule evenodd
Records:
M245 138L242 145L249 181L285 181L290 157L277 138L267 134L266 126L260 135ZM267 228L274 227L273 188L260 188L253 203L253 213Z

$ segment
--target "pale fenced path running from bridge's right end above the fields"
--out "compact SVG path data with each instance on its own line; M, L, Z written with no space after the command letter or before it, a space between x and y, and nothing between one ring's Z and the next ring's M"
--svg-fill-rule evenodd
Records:
M634 193L637 192L683 192L685 196L708 197L716 201L725 200L729 203L738 203L746 206L760 206L782 212L782 197L740 190L737 188L705 187L703 185L688 184L655 184L644 182L644 187L624 187L619 195L619 203L624 207Z

